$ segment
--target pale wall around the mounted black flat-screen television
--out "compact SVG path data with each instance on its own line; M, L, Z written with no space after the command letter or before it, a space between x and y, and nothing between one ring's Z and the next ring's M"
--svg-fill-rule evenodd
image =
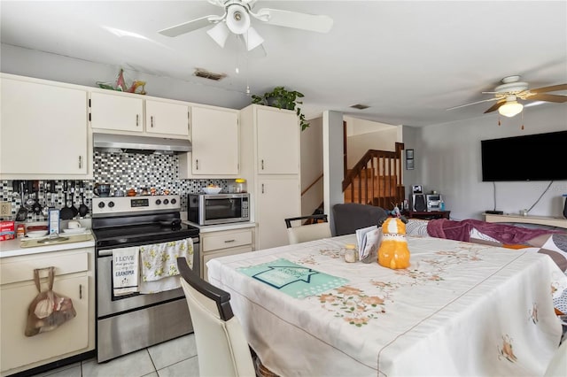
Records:
M413 148L416 158L416 170L405 171L404 184L406 188L423 184L426 192L439 191L453 219L482 219L481 213L493 210L494 206L505 213L518 213L532 207L550 182L483 182L480 141L564 130L567 130L567 104L527 107L524 120L522 116L501 117L501 126L498 126L498 114L493 113L425 128L404 127L406 149ZM565 161L557 169L567 168L565 147ZM545 150L526 150L526 153L533 154L535 164L554 163L546 161ZM530 214L561 216L563 194L567 194L567 181L555 181Z

